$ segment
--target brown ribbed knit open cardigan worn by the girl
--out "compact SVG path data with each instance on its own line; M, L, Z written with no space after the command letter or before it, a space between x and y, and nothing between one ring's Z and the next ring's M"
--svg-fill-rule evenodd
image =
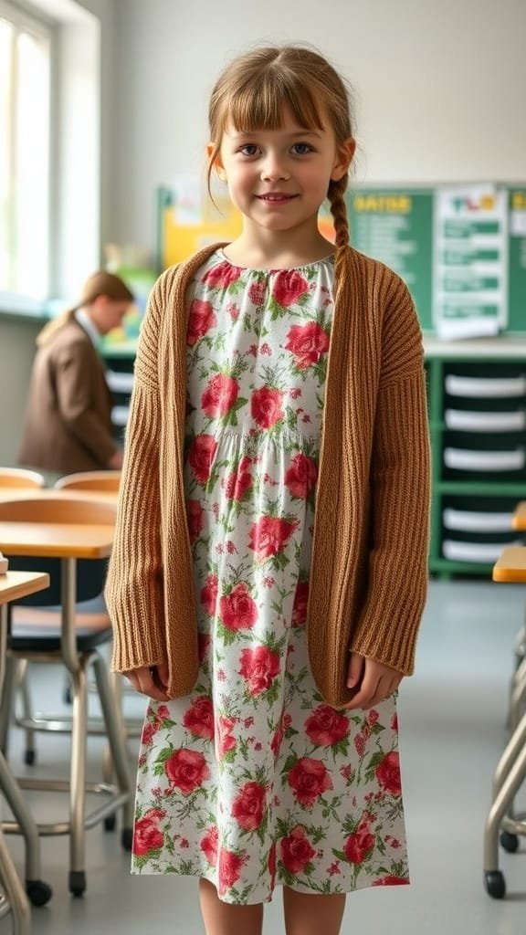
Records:
M197 682L197 611L183 489L185 293L217 244L161 275L139 341L106 597L113 669L168 660L168 696ZM308 643L341 707L348 652L414 667L427 591L430 459L420 328L402 280L348 248L329 347Z

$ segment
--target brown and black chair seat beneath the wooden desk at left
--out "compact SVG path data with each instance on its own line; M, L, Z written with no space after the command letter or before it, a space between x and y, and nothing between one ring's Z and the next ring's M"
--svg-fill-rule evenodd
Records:
M112 638L111 622L100 598L77 604L77 649L89 652ZM61 648L60 607L23 607L11 610L7 647L18 653L56 653Z

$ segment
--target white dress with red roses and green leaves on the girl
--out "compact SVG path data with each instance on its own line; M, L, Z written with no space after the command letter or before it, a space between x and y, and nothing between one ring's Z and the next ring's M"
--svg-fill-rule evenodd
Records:
M149 703L132 870L204 877L235 904L409 882L395 698L336 711L307 655L333 281L331 258L256 270L217 251L192 284L200 669L190 696Z

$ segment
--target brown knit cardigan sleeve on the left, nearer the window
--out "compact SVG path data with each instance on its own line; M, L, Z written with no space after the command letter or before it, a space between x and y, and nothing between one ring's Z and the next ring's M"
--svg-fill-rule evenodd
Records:
M114 633L112 669L116 671L154 666L166 656L157 368L165 275L153 287L139 338L105 590Z

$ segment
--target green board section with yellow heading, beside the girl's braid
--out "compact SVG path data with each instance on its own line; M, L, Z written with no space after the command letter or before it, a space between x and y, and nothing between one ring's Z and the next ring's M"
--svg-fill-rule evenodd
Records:
M359 189L347 197L351 243L396 270L415 301L422 328L432 328L431 189Z

